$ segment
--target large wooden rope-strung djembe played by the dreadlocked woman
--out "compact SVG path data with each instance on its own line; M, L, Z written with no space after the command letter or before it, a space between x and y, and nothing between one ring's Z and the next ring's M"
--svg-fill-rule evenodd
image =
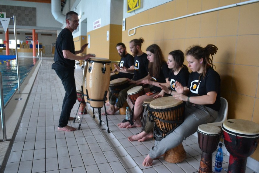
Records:
M176 100L173 97L161 97L150 102L148 110L153 116L155 122L155 130L159 132L159 136L154 130L154 139L161 140L169 133L173 132L184 121L185 102ZM170 163L179 163L186 157L186 153L182 144L164 155L164 160Z

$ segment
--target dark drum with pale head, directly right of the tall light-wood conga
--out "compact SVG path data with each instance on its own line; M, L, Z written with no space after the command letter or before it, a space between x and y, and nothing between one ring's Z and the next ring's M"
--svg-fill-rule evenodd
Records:
M110 81L110 92L116 98L119 96L119 92L129 86L129 81L126 77L118 78Z

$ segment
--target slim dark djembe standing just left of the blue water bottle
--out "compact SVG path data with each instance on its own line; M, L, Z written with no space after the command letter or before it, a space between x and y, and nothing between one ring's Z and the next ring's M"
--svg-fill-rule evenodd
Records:
M198 143L202 150L199 173L212 172L212 153L217 149L222 131L215 125L202 124L198 129Z

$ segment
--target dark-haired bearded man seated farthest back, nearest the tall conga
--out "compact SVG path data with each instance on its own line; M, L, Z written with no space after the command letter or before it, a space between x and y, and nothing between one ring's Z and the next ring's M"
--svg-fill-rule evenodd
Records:
M128 70L133 70L134 69L134 58L132 55L128 54L124 43L118 43L116 45L116 49L117 49L121 59L120 59L119 66L114 64L115 69L112 72L113 73L119 72L119 73L112 75L111 80L122 78L122 77L131 79L133 77L133 74L127 72L126 70L123 70L122 68L126 68Z

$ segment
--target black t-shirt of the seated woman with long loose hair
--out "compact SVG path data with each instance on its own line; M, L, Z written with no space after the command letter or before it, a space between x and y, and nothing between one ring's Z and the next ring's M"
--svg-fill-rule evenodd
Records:
M168 65L166 64L166 62L164 62L161 66L160 72L159 72L159 77L155 78L152 76L153 81L155 82L159 82L159 83L166 83L166 78L168 78L169 76L169 68ZM157 91L160 92L162 89L161 87L158 86L153 86L150 88L150 91Z

